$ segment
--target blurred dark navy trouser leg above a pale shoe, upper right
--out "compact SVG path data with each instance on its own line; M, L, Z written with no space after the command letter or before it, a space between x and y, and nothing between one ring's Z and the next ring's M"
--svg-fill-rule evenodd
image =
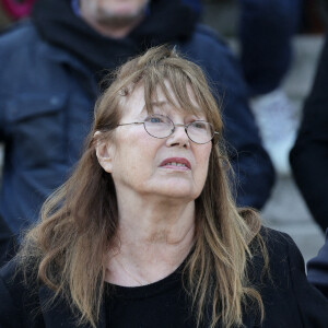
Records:
M239 0L241 61L251 96L280 86L292 62L303 0Z

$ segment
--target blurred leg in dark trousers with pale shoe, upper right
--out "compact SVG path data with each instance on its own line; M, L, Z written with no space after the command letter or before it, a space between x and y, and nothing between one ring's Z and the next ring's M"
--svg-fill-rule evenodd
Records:
M202 1L183 1L201 14ZM292 37L300 27L303 0L238 0L238 4L239 57L251 109L276 169L286 175L297 108L281 84L292 62Z

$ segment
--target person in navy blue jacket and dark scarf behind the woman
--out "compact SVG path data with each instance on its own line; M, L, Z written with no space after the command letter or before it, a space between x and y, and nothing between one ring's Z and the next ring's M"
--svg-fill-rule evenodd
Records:
M0 215L12 234L79 159L104 75L150 46L176 45L223 95L224 134L239 206L260 209L274 173L247 105L239 67L197 15L175 0L39 0L32 21L0 38L0 136L5 143Z

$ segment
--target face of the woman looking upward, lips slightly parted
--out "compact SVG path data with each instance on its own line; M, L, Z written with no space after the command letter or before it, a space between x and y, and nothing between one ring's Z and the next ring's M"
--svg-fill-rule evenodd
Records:
M189 95L192 98L191 91ZM175 99L173 94L172 97ZM161 92L157 101L154 114L167 116L174 124L206 120L201 110L195 116L177 109ZM143 87L138 87L124 105L120 124L143 121L147 116ZM113 176L118 198L131 194L190 201L203 188L211 148L211 142L197 144L189 140L183 127L176 127L165 139L156 139L143 125L128 125L116 128L114 140L97 153L101 165ZM105 154L106 160L99 154Z

